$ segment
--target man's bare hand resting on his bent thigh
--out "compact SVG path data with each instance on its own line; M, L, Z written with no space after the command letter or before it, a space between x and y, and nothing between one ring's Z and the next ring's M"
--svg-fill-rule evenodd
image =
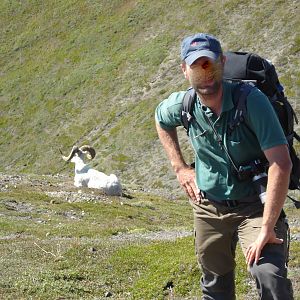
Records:
M282 244L283 240L276 237L274 229L269 230L263 226L256 241L246 250L246 262L248 266L252 265L253 262L258 263L261 251L268 243Z

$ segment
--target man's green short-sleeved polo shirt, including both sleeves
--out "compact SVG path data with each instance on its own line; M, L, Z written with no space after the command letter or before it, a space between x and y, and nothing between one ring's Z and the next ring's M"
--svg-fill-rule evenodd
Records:
M214 200L238 200L255 194L251 179L239 181L233 174L224 150L218 143L206 115L222 138L237 166L263 158L263 151L287 144L277 115L267 97L253 89L247 98L245 122L229 134L227 124L235 113L232 95L236 84L223 82L222 112L217 117L197 99L189 138L195 151L196 181L207 197ZM173 93L156 108L155 119L164 129L182 126L181 108L185 91ZM249 129L250 128L250 129Z

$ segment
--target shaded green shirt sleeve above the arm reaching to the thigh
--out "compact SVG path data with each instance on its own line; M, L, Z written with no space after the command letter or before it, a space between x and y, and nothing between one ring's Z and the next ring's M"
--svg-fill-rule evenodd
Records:
M247 117L261 149L267 150L287 144L277 114L269 99L259 89L253 89L247 98Z

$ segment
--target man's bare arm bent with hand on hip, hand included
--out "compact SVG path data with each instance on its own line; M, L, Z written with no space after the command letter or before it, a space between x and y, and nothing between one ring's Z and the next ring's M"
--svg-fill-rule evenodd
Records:
M184 161L176 128L166 130L156 122L156 130L180 185L193 202L199 203L201 196L195 183L195 170Z

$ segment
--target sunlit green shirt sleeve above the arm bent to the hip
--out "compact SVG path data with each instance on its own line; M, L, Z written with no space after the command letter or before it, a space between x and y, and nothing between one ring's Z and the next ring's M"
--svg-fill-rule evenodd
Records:
M181 110L185 92L173 93L158 104L155 110L155 121L163 129L173 129L182 125Z

